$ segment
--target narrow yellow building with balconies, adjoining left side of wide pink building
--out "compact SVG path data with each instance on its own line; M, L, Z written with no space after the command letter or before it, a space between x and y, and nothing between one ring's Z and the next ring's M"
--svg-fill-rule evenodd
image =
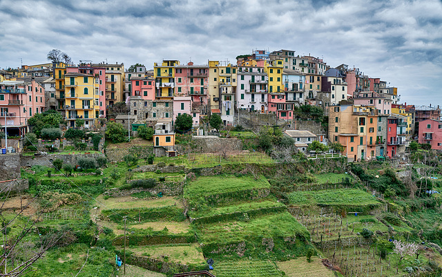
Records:
M172 99L175 95L175 66L180 61L164 59L161 65L153 64L153 77L155 78L155 98Z

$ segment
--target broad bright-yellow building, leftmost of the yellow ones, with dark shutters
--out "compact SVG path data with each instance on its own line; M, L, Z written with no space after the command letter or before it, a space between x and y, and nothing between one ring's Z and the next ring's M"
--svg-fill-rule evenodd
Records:
M95 84L93 75L84 73L66 73L66 120L69 127L76 127L75 120L84 120L84 127L94 126L94 119L99 117L99 106L95 103L99 95L95 90L99 84Z

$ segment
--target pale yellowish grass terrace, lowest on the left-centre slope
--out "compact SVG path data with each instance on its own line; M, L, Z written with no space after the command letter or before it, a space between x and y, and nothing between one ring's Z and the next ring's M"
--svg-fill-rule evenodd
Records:
M191 245L152 245L152 246L133 246L129 251L137 256L144 256L163 260L164 262L177 262L184 265L205 264L202 250L197 243Z

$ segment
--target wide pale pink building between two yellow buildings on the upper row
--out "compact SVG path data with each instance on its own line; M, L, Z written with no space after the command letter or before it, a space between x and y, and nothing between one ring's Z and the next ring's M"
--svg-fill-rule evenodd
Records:
M190 96L195 105L207 104L209 66L175 66L175 95Z

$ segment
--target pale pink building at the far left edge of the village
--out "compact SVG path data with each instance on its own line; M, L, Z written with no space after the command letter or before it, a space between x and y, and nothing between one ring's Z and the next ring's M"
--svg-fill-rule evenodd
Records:
M32 77L3 81L0 86L0 124L7 126L8 135L23 135L28 119L44 111L44 88Z

